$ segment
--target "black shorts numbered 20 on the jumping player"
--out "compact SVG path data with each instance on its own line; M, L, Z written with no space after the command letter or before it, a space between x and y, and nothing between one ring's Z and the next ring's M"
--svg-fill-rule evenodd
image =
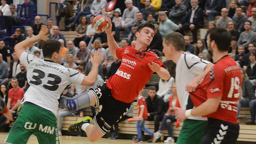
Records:
M128 111L131 103L116 100L106 83L99 85L97 88L89 90L96 97L96 106L102 105L101 111L94 117L95 123L103 134L118 122Z

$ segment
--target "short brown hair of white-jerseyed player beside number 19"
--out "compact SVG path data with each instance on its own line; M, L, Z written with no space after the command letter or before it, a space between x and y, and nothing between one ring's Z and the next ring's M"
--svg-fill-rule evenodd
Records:
M170 33L164 37L164 42L166 45L173 45L176 51L185 50L185 39L182 34L178 32Z

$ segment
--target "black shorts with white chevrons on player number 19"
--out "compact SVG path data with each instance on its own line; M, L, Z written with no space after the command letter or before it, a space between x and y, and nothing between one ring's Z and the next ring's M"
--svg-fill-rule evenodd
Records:
M201 144L235 144L239 135L239 124L208 118Z

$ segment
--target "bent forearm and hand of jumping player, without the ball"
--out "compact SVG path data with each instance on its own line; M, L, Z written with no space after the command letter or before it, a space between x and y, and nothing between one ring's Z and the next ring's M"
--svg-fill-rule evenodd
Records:
M152 62L152 65L149 63L148 66L153 72L156 72L161 79L168 80L170 79L170 73L167 69L160 67L157 63Z

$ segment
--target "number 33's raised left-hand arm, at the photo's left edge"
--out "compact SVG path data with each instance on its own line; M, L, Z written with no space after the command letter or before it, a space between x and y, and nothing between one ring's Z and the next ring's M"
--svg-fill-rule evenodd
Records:
M20 55L26 50L28 46L30 46L31 44L37 41L45 40L46 38L48 38L49 37L48 31L49 29L45 25L42 25L38 35L16 44L14 47L14 50L18 55L18 58L20 58Z

